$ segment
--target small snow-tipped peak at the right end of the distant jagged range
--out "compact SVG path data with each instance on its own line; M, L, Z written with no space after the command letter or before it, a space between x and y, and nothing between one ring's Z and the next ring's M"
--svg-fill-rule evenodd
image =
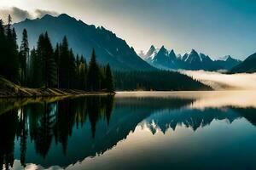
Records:
M230 55L226 55L221 59L215 61L218 65L224 68L224 70L230 71L236 65L241 64L241 60L233 59Z

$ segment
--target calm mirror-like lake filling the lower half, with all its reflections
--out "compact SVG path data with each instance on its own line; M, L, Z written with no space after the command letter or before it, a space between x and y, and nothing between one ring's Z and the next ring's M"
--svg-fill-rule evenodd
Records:
M256 92L1 99L0 166L255 169Z

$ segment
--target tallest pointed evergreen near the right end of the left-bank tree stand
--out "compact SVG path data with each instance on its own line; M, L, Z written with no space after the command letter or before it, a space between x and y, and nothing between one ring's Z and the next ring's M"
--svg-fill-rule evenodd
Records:
M89 91L99 91L101 89L101 72L100 68L96 62L96 53L95 49L92 50L90 64L87 75L87 86Z

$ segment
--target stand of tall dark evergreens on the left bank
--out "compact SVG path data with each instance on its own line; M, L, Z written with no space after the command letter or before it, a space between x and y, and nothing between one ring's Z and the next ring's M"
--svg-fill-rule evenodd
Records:
M113 75L109 65L98 65L93 49L90 63L73 53L67 37L53 48L47 32L38 37L36 48L29 48L24 29L20 48L15 28L0 20L0 75L28 88L66 88L113 92Z

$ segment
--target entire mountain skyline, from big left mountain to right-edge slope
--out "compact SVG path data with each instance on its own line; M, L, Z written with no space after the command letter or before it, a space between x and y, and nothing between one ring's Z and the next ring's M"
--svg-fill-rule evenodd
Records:
M47 31L53 46L67 36L69 46L77 54L83 54L90 59L92 48L96 49L96 57L100 64L109 63L114 70L152 71L154 67L164 70L226 70L231 73L255 72L256 54L252 54L243 62L233 59L230 55L213 60L207 54L198 53L192 49L190 53L175 54L164 46L157 49L153 45L146 54L138 54L125 40L117 37L112 31L102 26L87 25L82 20L67 15L44 15L35 20L23 20L14 24L17 41L21 41L22 31L26 28L30 48L37 45L38 36ZM142 59L143 58L143 59Z

